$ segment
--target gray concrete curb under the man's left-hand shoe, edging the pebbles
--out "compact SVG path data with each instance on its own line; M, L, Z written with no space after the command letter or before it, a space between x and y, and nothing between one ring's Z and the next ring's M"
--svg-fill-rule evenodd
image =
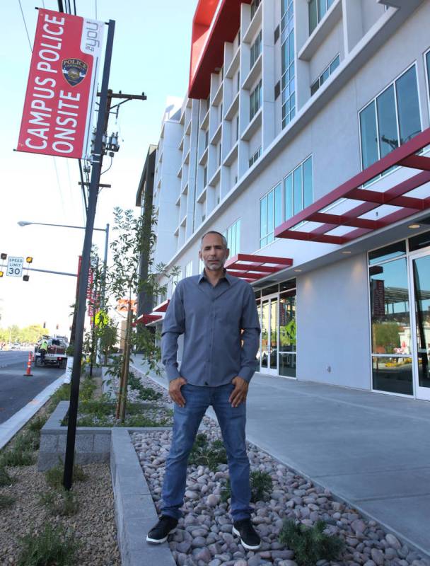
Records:
M175 566L168 545L146 543L158 516L127 429L112 429L110 473L122 566Z

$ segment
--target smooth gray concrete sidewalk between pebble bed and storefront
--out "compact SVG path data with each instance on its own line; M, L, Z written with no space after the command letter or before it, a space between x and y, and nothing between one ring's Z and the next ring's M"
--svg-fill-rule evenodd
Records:
M430 403L255 374L247 438L430 556Z

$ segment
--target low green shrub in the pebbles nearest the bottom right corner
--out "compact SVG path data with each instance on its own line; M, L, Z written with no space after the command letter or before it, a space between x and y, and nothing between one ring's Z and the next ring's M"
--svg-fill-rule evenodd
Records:
M318 560L336 560L344 542L338 536L325 533L326 526L325 521L317 521L308 527L286 520L279 533L279 542L294 550L296 562L303 566L314 566Z

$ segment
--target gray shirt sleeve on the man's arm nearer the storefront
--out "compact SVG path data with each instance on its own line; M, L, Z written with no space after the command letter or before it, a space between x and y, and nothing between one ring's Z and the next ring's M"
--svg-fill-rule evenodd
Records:
M254 291L252 291L250 285L243 301L240 328L243 330L241 336L243 345L240 350L240 371L238 376L249 383L257 370L256 356L260 346L260 321L258 320Z

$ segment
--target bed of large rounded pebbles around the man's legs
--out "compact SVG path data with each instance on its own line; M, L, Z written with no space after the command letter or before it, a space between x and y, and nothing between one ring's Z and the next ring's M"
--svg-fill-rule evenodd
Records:
M203 425L209 440L220 438L216 422L204 417ZM132 434L158 512L170 439L170 431ZM257 502L252 516L262 537L262 548L257 553L247 552L232 534L228 505L220 502L228 467L221 464L214 473L203 466L189 466L184 517L177 531L169 536L170 550L179 566L297 566L293 551L278 542L285 518L309 526L323 519L327 532L345 541L338 562L322 560L317 566L430 566L430 560L420 558L395 536L385 533L376 521L364 519L356 509L335 501L328 490L313 485L249 443L248 456L251 470L265 471L273 480L271 498Z

